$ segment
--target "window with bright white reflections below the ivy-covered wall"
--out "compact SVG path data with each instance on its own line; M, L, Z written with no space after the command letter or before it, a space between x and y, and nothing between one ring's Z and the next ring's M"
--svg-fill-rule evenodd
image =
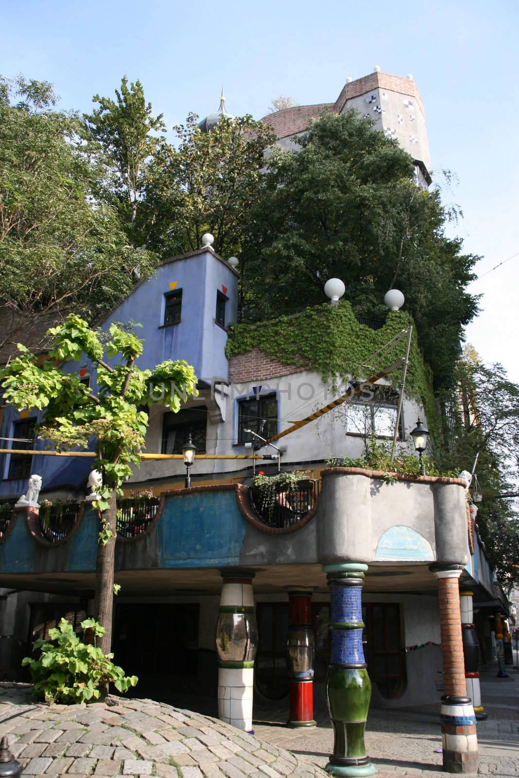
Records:
M378 437L392 437L397 419L398 391L391 387L373 385L366 392L356 395L346 406L348 433ZM398 436L403 437L403 413L400 415Z

